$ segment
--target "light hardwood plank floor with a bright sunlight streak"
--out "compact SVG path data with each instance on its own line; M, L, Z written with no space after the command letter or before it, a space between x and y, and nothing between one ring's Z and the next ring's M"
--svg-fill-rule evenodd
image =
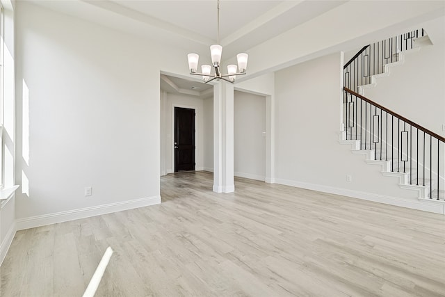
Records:
M209 172L163 203L17 232L1 296L445 296L445 216Z

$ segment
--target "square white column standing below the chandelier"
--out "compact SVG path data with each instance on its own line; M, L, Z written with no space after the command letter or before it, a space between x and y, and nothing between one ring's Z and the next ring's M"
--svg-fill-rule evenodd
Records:
M213 86L213 191L231 193L234 185L234 86Z

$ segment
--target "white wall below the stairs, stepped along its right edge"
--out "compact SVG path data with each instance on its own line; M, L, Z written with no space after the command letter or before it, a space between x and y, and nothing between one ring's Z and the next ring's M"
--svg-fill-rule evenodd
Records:
M382 177L340 145L341 54L323 56L275 73L276 182L374 201L416 201L398 178ZM346 182L346 175L353 181ZM395 202L394 202L395 203Z

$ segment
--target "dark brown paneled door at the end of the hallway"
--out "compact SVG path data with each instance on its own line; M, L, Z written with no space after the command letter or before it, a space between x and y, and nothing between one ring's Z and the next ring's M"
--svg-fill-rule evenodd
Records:
M175 107L175 172L195 170L195 109Z

